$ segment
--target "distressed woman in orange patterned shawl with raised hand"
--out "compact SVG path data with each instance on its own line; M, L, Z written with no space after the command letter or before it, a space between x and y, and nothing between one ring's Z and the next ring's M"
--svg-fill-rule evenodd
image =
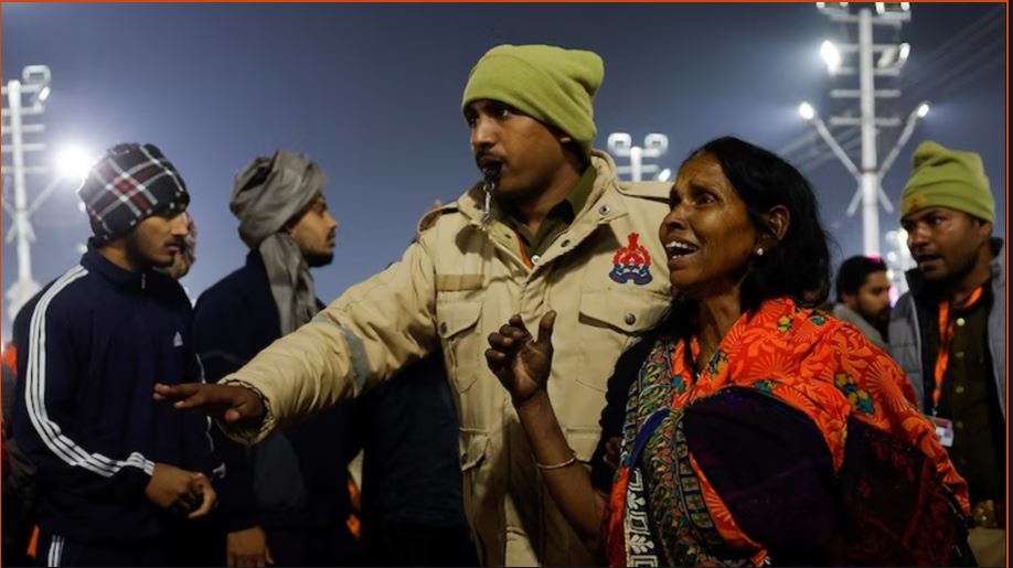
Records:
M973 565L968 493L896 364L813 309L830 255L812 189L735 138L680 168L660 237L676 302L617 365L610 495L546 390L553 312L489 337L561 511L612 566ZM617 293L621 293L617 292ZM593 346L589 346L593 349Z

